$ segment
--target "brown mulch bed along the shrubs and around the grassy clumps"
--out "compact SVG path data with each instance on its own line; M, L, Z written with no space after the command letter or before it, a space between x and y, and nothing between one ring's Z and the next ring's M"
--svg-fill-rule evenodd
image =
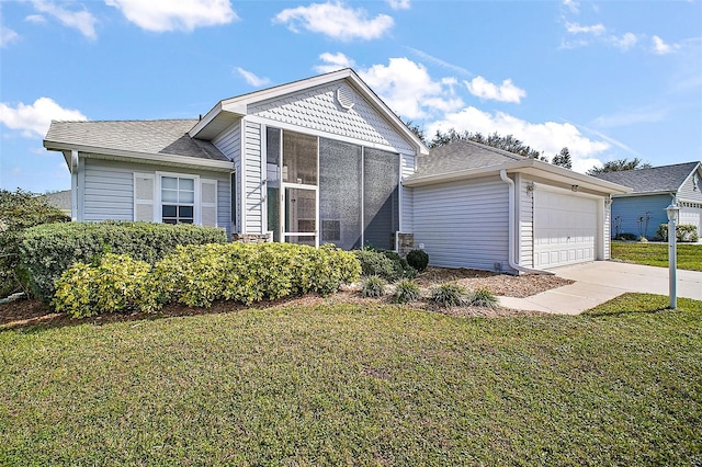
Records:
M522 275L510 276L476 270L448 270L441 267L429 267L421 273L415 282L424 292L429 288L446 283L455 282L471 289L480 287L488 288L495 295L509 297L529 297L551 288L561 287L573 283L562 277L553 275ZM337 294L321 297L309 294L303 297L291 297L279 300L261 301L252 305L242 305L233 301L217 301L211 308L193 308L181 304L170 304L157 314L111 314L90 318L75 319L66 314L53 312L50 307L41 300L15 300L8 304L0 304L0 330L24 328L32 326L63 327L76 326L80 323L91 323L95 326L117 321L135 321L144 319L159 319L179 316L195 316L204 314L223 314L238 311L248 308L274 309L284 306L319 306L333 304L355 304L374 306L387 304L387 298L363 298L358 294L358 287L344 287ZM426 300L418 300L408 306L424 309L428 311L442 312L455 317L506 317L506 316L534 316L543 315L539 311L524 311L508 308L482 308L482 307L453 307L443 308L429 304Z

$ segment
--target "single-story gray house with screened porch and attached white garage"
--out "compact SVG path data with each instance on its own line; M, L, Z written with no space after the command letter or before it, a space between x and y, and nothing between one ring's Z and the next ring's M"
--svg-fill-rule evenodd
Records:
M430 153L351 69L226 99L199 119L53 122L44 146L64 153L76 220L344 249L414 238L432 264L511 273L608 259L609 198L626 191L480 145Z

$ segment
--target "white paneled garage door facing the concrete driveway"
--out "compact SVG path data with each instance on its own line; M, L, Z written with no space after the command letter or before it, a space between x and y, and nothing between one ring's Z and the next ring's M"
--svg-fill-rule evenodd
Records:
M534 266L595 260L597 200L544 190L534 200Z

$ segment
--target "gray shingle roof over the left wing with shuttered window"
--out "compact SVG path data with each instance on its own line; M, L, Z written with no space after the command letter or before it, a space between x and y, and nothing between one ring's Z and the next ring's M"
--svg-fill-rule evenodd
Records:
M212 143L194 139L188 135L196 123L196 119L52 122L45 140L113 150L228 161L229 159Z

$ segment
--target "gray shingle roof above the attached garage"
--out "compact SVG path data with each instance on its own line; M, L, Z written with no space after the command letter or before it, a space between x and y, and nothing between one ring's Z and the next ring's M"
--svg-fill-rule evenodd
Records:
M428 156L417 158L414 176L439 175L458 170L499 166L505 162L523 160L524 157L485 146L474 141L453 141L432 148Z

